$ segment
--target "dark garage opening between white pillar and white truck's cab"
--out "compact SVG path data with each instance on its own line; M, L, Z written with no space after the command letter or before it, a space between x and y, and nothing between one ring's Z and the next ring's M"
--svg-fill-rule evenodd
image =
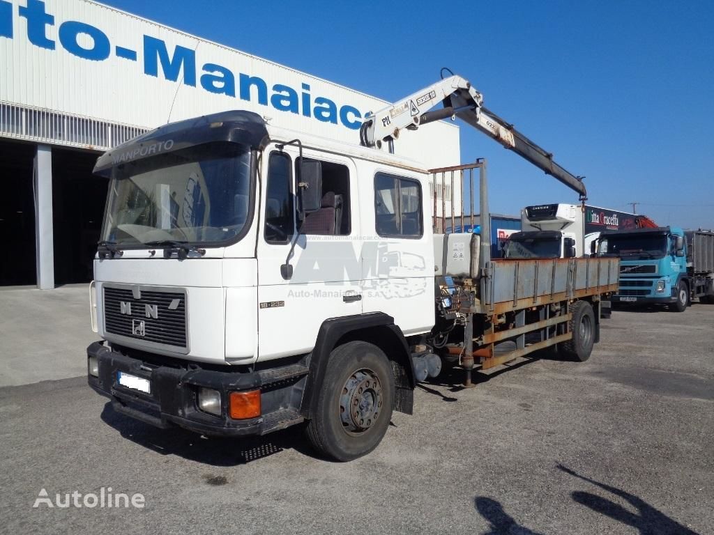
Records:
M107 180L91 174L99 153L52 148L55 285L89 282Z

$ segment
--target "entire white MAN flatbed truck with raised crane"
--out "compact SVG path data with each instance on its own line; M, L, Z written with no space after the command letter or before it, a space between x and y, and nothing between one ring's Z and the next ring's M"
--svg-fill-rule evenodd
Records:
M371 116L361 146L227 111L105 153L89 385L162 428L241 437L306 422L318 452L348 461L445 362L471 386L475 367L545 347L588 359L617 258L491 260L486 161L427 170L376 150L452 115L585 196L458 76ZM434 234L429 184L463 184L465 170L481 237Z

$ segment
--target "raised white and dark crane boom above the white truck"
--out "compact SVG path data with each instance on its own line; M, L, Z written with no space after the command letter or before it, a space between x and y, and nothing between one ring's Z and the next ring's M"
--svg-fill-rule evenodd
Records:
M440 101L444 107L430 111ZM451 116L460 118L560 180L578 192L580 200L587 198L587 190L581 177L555 163L553 154L523 136L511 123L503 121L496 113L486 109L483 106L483 95L461 76L443 78L369 116L360 129L361 144L381 148L383 142L396 140L404 128L416 130L423 124Z

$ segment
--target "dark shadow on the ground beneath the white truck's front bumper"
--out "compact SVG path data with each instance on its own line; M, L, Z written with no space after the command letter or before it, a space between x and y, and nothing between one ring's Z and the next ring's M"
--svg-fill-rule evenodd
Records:
M321 459L303 435L298 425L264 437L223 438L203 437L179 427L158 429L144 422L119 414L104 405L101 419L116 429L121 437L161 455L177 455L184 459L215 467L233 467L270 457L286 449L294 449L307 457Z

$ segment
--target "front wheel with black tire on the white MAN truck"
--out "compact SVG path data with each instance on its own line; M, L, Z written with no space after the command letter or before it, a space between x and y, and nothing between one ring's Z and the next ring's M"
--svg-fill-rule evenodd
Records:
M332 350L307 435L315 449L336 461L351 461L377 447L387 432L394 376L384 352L368 342Z

